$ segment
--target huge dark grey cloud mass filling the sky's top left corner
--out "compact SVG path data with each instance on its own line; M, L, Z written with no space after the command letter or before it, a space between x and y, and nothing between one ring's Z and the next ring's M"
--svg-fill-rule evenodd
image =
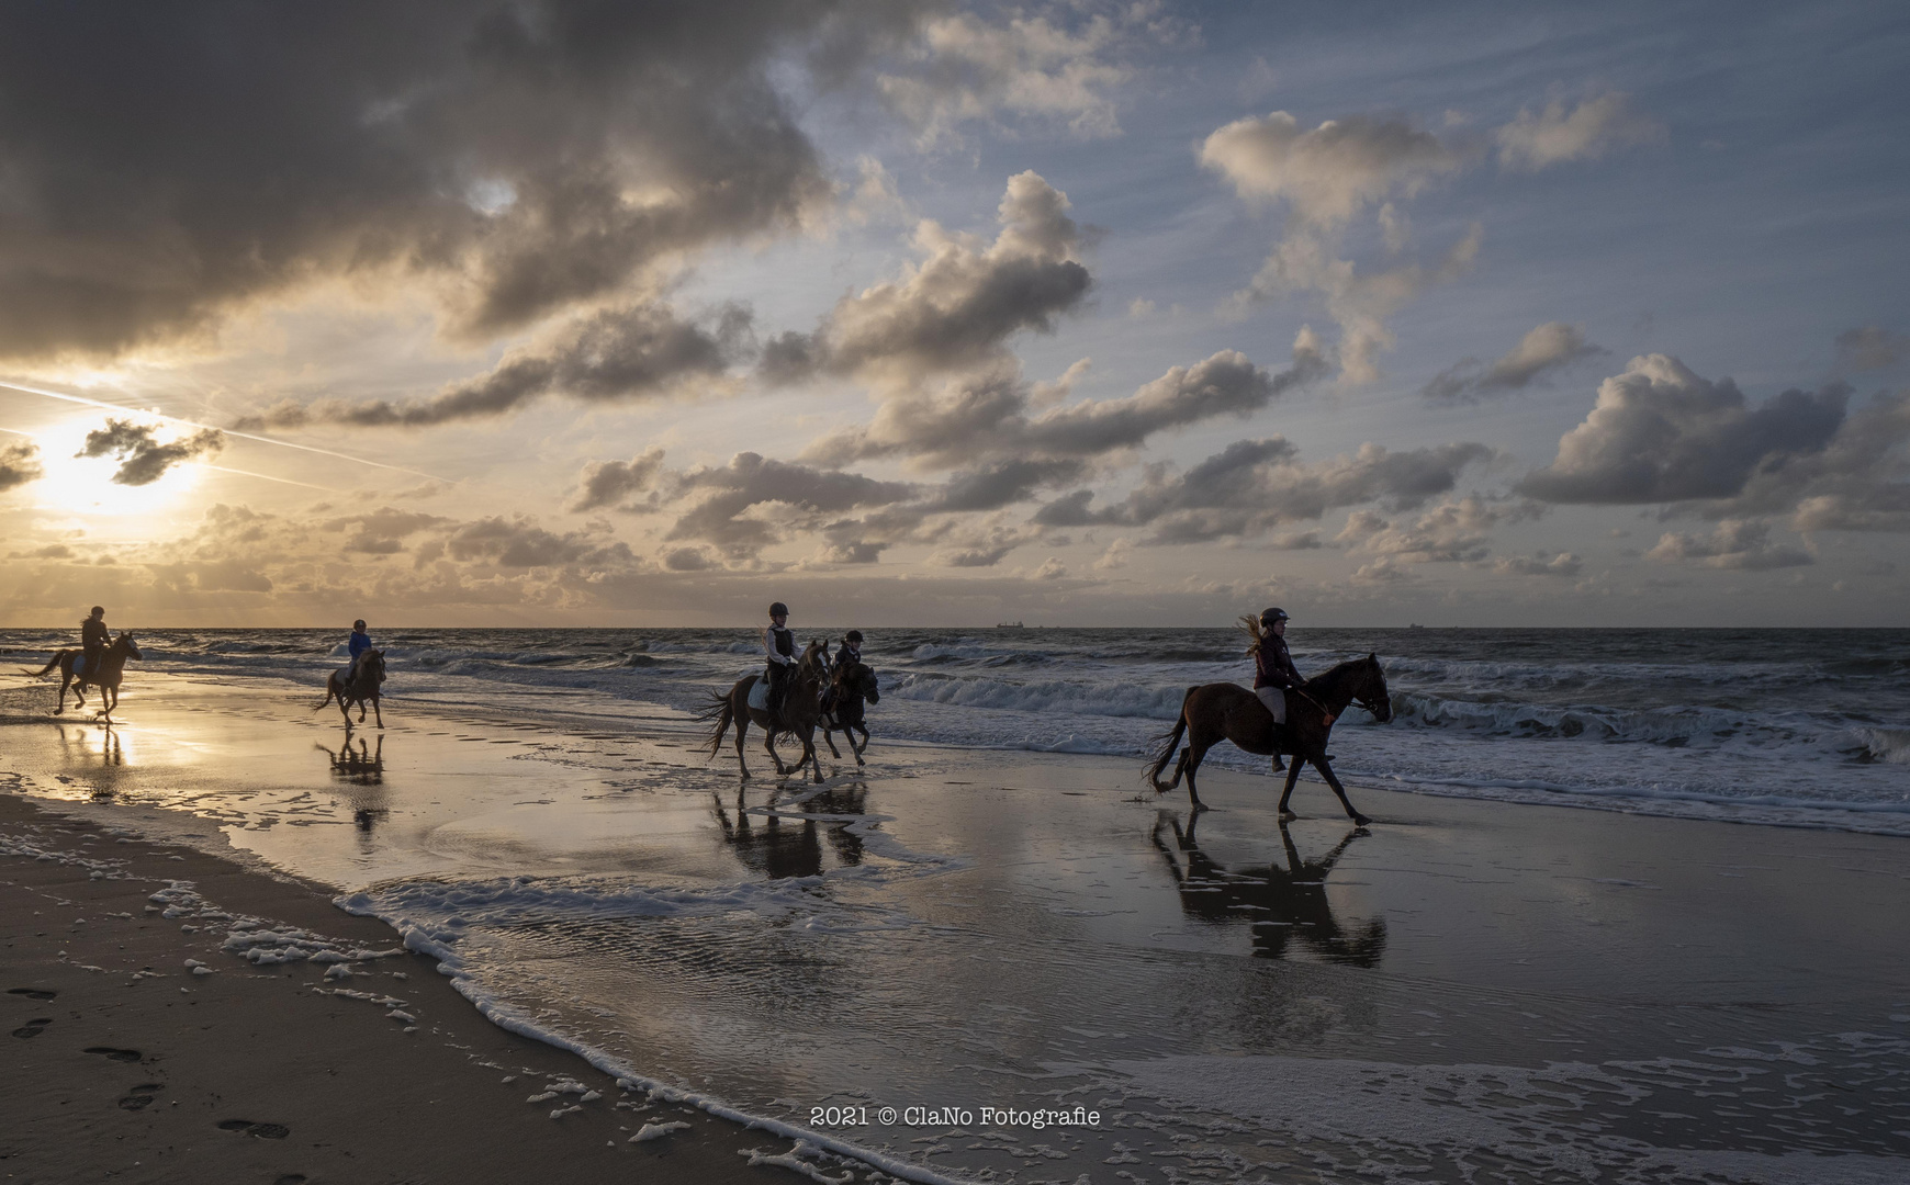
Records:
M863 0L27 4L0 15L0 357L115 353L395 269L491 338L833 197L770 80Z

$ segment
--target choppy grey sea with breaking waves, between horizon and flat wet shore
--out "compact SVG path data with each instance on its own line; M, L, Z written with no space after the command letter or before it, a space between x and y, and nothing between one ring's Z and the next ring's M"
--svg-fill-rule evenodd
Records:
M842 630L798 630L840 641ZM888 742L1140 758L1188 687L1251 685L1243 635L1192 630L863 630ZM340 632L155 630L143 670L309 683ZM754 630L378 632L386 696L615 717L701 710L760 670ZM1413 794L1910 834L1910 630L1305 630L1303 674L1377 655L1394 719L1348 710L1335 769ZM0 632L21 660L67 632ZM1209 761L1264 761L1217 748Z

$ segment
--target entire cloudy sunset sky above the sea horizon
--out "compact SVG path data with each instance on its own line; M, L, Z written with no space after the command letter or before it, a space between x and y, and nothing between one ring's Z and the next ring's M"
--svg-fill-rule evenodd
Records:
M1900 4L11 4L0 624L1910 626Z

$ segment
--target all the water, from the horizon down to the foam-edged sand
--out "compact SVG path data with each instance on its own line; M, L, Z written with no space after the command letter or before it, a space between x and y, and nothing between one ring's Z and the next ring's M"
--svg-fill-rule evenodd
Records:
M1371 830L1312 782L1278 821L1230 746L1211 813L1144 788L1186 689L1251 679L1236 630L863 634L869 765L823 784L703 746L741 628L378 630L355 737L309 710L342 632L139 632L130 723L0 771L338 885L632 1128L699 1107L829 1185L1906 1179L1910 630L1293 628L1305 674L1383 664L1335 769L1427 811ZM223 698L160 721L174 677Z

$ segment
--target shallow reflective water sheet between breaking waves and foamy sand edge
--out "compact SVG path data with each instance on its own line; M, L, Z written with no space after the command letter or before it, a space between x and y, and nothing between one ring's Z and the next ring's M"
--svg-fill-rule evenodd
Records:
M1895 1181L1910 1156L1900 840L1362 779L1371 832L1314 782L1282 828L1276 784L1224 771L1196 821L1131 759L894 744L888 698L861 775L739 788L688 716L592 687L453 708L447 681L346 738L265 674L149 662L126 725L8 729L0 765L340 885L493 1017L915 1177Z

